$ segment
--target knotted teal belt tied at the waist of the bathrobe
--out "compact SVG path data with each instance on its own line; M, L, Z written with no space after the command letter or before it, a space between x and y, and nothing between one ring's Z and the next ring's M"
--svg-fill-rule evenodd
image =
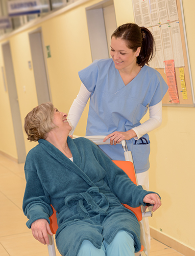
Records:
M93 199L95 196L100 196L100 199L98 200L98 204ZM87 209L91 209L96 214L108 215L107 209L109 208L109 202L107 197L103 193L100 193L99 187L93 186L88 188L86 192L67 196L64 199L64 201L65 201L65 205L68 207L71 207L77 204L77 210L84 219L90 217ZM84 206L84 201L86 201L87 206L90 206L90 207L87 207L87 209Z

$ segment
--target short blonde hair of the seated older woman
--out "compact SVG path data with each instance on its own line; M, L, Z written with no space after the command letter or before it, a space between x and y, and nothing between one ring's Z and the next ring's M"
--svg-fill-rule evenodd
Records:
M46 102L36 106L27 114L24 128L28 140L46 139L48 132L56 127L53 123L54 111L54 105L51 102Z

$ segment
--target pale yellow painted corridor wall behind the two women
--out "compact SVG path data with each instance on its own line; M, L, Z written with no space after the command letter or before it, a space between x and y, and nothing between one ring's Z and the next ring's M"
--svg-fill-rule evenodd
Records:
M37 105L28 33L41 27L44 45L50 45L51 58L46 59L48 76L54 105L65 112L76 97L80 80L78 71L91 63L91 52L87 30L85 8L100 0L88 1L57 17L28 30L13 34L10 40L19 106L22 120ZM114 0L116 22L121 25L133 22L130 0ZM193 49L193 21L195 2L183 0L188 48L193 82L195 83L195 51ZM4 41L1 41L2 44ZM0 65L3 64L0 52ZM25 86L26 92L23 90ZM0 151L17 158L8 93L4 91L0 72ZM88 109L77 126L75 134L84 135ZM23 125L23 123L22 123ZM163 206L150 219L152 228L162 230L165 235L195 250L195 222L193 221L195 108L163 107L163 124L150 133L150 188L162 197ZM24 135L25 136L25 135ZM26 138L26 136L25 136ZM26 139L25 139L26 140ZM26 140L28 152L35 143Z

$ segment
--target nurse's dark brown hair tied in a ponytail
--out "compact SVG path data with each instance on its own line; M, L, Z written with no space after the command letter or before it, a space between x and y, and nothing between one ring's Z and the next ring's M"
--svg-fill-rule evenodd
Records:
M111 35L112 37L123 39L127 47L134 52L138 47L141 47L139 56L137 57L137 63L143 67L148 64L152 59L155 50L154 36L145 27L139 27L134 23L127 23L119 26Z

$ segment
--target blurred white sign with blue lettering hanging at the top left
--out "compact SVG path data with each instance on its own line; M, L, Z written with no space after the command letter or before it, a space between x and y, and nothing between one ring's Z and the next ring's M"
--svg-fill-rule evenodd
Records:
M39 0L8 1L9 16L28 15L41 12Z

